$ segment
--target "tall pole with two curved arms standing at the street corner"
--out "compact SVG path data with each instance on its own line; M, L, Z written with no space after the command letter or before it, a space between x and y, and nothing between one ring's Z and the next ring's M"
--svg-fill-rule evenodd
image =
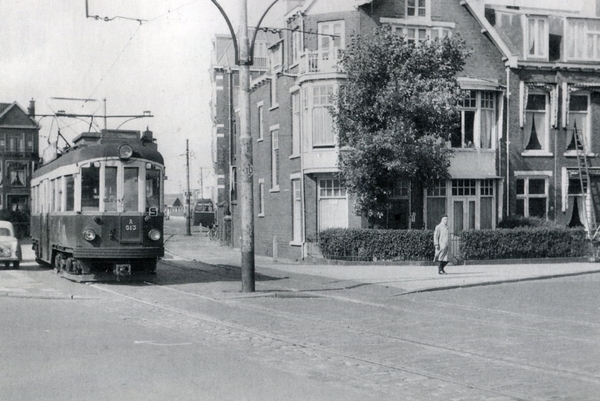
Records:
M260 24L274 0L261 16L256 25L252 44L248 40L248 1L240 0L240 42L238 44L231 21L217 0L211 0L225 18L231 33L235 50L235 63L240 66L240 198L241 198L241 253L242 253L242 292L254 292L254 166L252 161L252 135L250 132L250 66L254 61L254 40Z

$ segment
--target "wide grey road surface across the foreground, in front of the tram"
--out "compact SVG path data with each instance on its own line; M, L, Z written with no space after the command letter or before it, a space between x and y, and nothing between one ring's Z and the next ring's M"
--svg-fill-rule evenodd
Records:
M138 285L1 270L0 400L600 399L600 275L215 296L238 279L177 260Z

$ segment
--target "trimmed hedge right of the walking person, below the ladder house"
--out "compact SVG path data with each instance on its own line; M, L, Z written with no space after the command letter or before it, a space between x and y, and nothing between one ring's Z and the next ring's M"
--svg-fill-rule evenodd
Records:
M463 231L461 254L464 259L537 259L581 257L587 253L583 229L514 228Z

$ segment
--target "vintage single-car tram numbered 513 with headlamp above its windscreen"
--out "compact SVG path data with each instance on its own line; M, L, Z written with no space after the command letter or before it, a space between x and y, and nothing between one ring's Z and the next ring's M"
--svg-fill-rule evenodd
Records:
M86 132L31 182L36 260L74 281L142 278L163 246L164 160L150 131Z

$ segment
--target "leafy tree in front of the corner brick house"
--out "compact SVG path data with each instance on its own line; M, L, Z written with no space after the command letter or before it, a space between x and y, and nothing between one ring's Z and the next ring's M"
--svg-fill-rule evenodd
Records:
M425 185L448 177L459 128L456 74L468 52L459 38L415 46L389 27L352 38L347 81L332 109L341 178L357 211L381 216L400 179Z

